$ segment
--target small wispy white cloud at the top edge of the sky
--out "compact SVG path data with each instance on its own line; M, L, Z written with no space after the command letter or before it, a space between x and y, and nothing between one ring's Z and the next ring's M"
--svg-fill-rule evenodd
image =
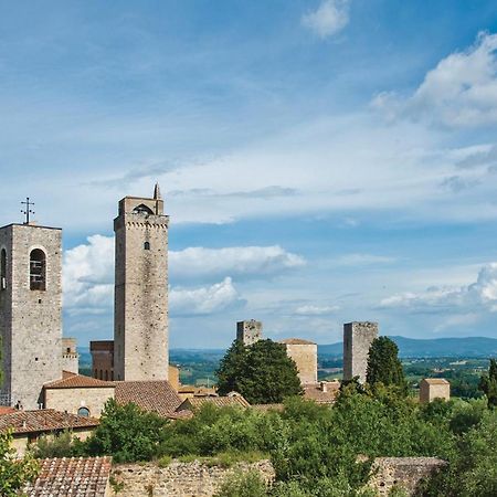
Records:
M349 23L349 0L322 0L315 11L303 15L302 23L319 38L328 38Z

